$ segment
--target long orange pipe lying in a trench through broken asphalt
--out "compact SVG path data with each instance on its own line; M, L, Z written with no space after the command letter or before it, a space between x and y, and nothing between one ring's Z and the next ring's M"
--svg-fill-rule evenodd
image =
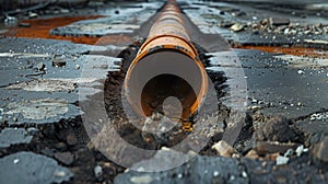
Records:
M166 2L150 28L128 68L124 90L132 110L142 117L163 113L163 104L174 96L179 101L178 117L165 115L179 119L183 129L192 130L191 117L207 94L208 77L175 0Z

